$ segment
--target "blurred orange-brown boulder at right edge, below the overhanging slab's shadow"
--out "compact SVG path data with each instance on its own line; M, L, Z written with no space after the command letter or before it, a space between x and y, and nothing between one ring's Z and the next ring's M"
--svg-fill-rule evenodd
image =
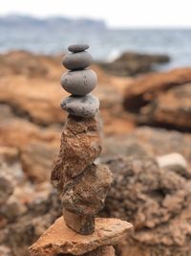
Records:
M139 122L160 127L191 130L191 82L159 93L142 108Z

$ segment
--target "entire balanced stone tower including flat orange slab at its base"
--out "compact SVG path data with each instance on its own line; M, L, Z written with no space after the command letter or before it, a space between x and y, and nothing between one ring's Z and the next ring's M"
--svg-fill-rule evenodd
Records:
M97 77L89 68L93 58L88 48L71 45L71 53L62 61L69 71L62 75L61 84L72 95L61 102L69 115L51 180L61 198L63 217L32 244L31 255L114 256L111 245L132 229L127 221L96 218L104 207L112 174L107 166L95 163L101 151L99 101L91 94Z

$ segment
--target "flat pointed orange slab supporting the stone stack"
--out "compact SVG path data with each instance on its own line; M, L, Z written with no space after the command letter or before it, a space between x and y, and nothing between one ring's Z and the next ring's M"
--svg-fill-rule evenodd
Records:
M61 217L29 249L32 256L81 255L98 246L117 244L132 227L127 221L97 218L96 231L83 236L68 228Z

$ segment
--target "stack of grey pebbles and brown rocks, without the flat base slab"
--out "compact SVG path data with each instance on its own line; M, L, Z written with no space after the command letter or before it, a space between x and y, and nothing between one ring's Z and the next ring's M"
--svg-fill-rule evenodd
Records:
M83 235L95 231L95 215L103 208L112 182L110 170L94 164L101 151L95 119L99 101L90 94L96 87L97 77L88 68L93 62L86 51L88 48L86 44L71 45L68 50L72 53L62 61L70 71L62 75L61 84L72 95L61 103L69 117L52 173L52 182L60 191L64 220Z

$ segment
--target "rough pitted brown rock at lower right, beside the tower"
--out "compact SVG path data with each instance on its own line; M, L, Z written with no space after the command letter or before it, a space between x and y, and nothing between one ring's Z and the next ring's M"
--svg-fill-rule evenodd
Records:
M191 177L159 168L150 156L134 154L107 163L114 185L106 212L135 226L135 233L117 245L119 255L189 255Z

